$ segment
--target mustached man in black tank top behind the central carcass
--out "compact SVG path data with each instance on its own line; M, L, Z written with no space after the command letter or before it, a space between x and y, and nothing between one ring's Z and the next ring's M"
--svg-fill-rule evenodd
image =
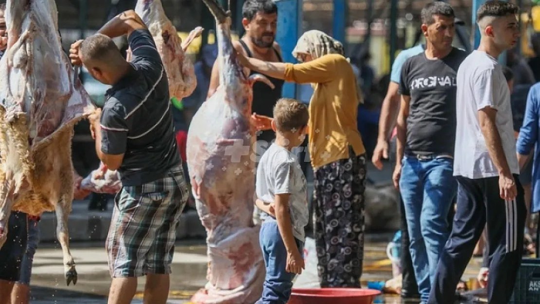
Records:
M233 42L234 48L245 56L269 62L282 62L281 49L274 41L278 21L278 7L272 0L247 0L242 6L242 25L246 33L240 40ZM254 74L253 71L250 75ZM284 80L268 77L275 85L272 89L267 84L256 82L253 85L252 112L262 116L273 116L274 105L281 97ZM214 64L212 78L208 88L208 97L219 86L219 67ZM275 134L272 130L257 133L257 162L270 146Z

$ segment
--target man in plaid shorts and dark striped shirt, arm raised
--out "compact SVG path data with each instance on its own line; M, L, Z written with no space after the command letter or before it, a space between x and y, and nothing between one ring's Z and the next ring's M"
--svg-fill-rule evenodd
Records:
M122 35L128 37L131 62L111 40ZM156 44L137 13L129 10L96 35L73 43L70 58L99 82L112 85L101 113L90 117L98 157L110 170L118 170L123 185L106 241L109 303L130 303L137 278L146 275L145 302L165 304L176 228L188 192Z

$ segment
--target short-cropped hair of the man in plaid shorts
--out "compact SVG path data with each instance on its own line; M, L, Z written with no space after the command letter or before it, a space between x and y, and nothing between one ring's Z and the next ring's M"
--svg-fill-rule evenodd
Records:
M80 52L84 60L103 61L114 58L116 55L122 58L122 53L114 41L102 34L95 34L84 39L80 44Z

